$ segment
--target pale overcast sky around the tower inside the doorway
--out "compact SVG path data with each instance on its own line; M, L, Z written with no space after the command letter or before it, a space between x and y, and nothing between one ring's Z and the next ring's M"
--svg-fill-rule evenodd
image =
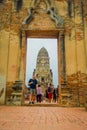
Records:
M36 68L36 60L39 50L45 47L48 51L50 58L50 69L53 72L53 84L55 87L58 85L58 54L57 54L57 39L27 39L27 56L26 56L26 85L34 69Z

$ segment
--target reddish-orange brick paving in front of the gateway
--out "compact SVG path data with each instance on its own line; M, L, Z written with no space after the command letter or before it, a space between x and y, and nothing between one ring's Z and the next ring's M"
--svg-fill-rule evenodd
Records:
M84 108L0 106L0 130L87 130Z

